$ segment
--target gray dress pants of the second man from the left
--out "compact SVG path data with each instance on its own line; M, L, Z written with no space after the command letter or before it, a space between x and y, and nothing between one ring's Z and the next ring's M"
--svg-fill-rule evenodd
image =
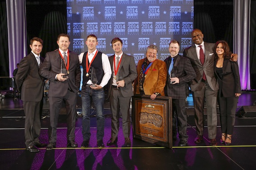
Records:
M62 101L66 105L67 140L75 140L76 101L77 93L67 91L63 97L49 97L50 127L48 130L49 143L56 143L57 124Z

